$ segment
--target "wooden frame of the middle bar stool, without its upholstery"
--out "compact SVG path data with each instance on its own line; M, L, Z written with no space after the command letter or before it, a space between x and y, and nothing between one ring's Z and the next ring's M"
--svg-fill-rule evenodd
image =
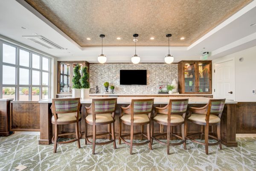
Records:
M152 108L150 112L138 112L134 113L134 101L153 101ZM145 145L148 144L149 149L152 150L151 146L151 139L150 139L150 118L151 118L151 113L154 105L154 99L132 99L131 104L128 107L121 107L121 115L119 116L119 145L121 144L121 140L127 144L130 145L130 154L132 154L132 147L133 145ZM125 114L130 114L131 115L131 122L125 122L121 119L121 117ZM143 122L143 123L134 123L134 114L148 114L148 122ZM130 125L131 126L131 133L130 134L125 134L122 135L122 123L125 125ZM134 133L134 126L135 125L141 125L141 132L140 133ZM147 125L147 135L143 133L144 131L144 125ZM148 140L145 142L141 143L134 143L133 142L133 136L135 135L141 135L141 140L143 139L143 136L145 136ZM124 137L130 136L131 141L127 142L125 141Z

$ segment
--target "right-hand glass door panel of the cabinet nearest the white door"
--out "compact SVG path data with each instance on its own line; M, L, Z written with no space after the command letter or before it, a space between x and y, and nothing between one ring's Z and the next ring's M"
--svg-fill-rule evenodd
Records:
M209 70L210 70L210 64L204 64L204 63L198 63L198 92L209 92L209 85L210 85L210 79L209 79Z

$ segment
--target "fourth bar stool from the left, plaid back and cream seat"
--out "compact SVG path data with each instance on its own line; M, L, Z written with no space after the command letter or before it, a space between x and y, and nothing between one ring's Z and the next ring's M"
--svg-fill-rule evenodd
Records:
M152 126L151 126L151 143L153 139L159 142L160 144L167 145L167 154L170 154L170 145L180 145L183 144L184 149L186 150L186 139L184 133L184 119L186 116L186 110L188 106L189 99L170 99L169 104L165 107L154 107L155 116L152 116ZM182 115L182 116L181 116ZM166 133L161 133L154 135L154 122L157 122L162 125L167 125L167 143L157 139L157 136L163 136ZM172 133L172 127L181 125L181 136L178 136L175 133ZM170 134L171 140L172 135L182 139L182 141L177 143L170 143Z

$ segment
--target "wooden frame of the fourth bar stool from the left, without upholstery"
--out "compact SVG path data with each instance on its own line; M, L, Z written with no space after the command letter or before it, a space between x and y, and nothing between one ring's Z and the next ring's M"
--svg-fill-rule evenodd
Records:
M179 114L182 115L183 119L185 120L186 117L186 111L185 112L175 112L172 113L172 102L175 101L189 101L189 99L170 99L169 104L167 104L165 107L154 107L154 114L151 118L151 144L153 144L153 139L156 140L157 142L159 142L160 144L163 145L167 145L167 154L170 154L170 145L174 146L174 145L180 145L183 144L184 149L186 150L186 138L185 138L185 122L179 122L179 123L171 123L171 115L172 114ZM168 115L167 118L167 122L161 122L161 121L157 121L154 119L155 116L157 116L157 114L166 114ZM160 133L158 135L154 135L154 122L157 122L158 124L161 125L167 125L167 133ZM181 125L181 134L182 137L173 133L172 132L172 127L173 126L177 126L177 125ZM170 136L171 134L171 136ZM163 136L166 135L167 136L167 143L160 141L159 139L157 139L157 136ZM172 140L172 136L176 136L179 139L182 139L182 141L177 142L177 143L170 143L170 140Z

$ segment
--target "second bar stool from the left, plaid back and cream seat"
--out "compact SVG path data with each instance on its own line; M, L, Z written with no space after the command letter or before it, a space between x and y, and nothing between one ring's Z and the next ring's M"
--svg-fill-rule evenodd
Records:
M95 154L95 145L105 145L113 142L114 149L116 149L116 137L115 137L115 111L116 111L117 98L113 99L93 99L90 107L85 107L85 145L93 145L93 154ZM87 124L93 125L93 135L87 136ZM96 125L108 125L109 132L96 134ZM112 127L111 127L112 124ZM96 136L102 136L109 134L110 141L96 143ZM111 139L112 136L112 139ZM89 137L93 137L93 142L89 141Z

